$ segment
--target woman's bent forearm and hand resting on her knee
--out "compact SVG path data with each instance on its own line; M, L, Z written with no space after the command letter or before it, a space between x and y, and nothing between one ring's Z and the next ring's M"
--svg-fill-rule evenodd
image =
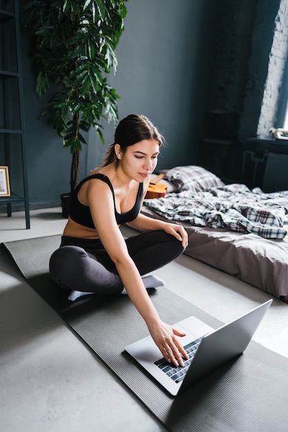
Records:
M129 222L127 225L131 226L131 228L144 231L164 230L165 233L171 234L176 237L176 239L180 240L183 247L188 245L188 234L182 225L153 219L152 217L142 215L142 213L140 213L136 219L134 219L132 222Z

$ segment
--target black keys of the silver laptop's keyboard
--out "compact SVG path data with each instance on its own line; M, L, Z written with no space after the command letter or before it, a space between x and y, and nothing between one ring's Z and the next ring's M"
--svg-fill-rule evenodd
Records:
M171 378L171 380L174 382L181 382L184 380L184 376L189 369L189 366L203 337L204 336L199 337L190 344L184 346L184 350L189 355L189 359L183 359L184 366L174 366L173 364L167 362L164 357L154 362L154 364L158 366L158 368L161 369L162 372L164 372L169 378Z

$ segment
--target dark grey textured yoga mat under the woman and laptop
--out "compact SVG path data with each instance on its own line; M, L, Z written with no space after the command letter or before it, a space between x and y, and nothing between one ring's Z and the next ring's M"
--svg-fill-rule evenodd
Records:
M94 295L71 304L66 293L50 280L48 261L59 241L60 236L51 236L1 246L10 252L32 288L167 429L287 431L287 358L252 341L237 360L183 395L171 397L123 353L126 344L148 335L128 296ZM215 328L221 324L165 288L155 290L151 300L171 324L189 315Z

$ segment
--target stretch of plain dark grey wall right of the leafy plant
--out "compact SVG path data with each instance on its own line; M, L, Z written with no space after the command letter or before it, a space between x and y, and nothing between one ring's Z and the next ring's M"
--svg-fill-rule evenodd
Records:
M117 49L111 82L122 99L119 117L143 113L168 146L159 167L195 161L207 91L207 64L215 2L135 1ZM133 35L133 37L131 37Z

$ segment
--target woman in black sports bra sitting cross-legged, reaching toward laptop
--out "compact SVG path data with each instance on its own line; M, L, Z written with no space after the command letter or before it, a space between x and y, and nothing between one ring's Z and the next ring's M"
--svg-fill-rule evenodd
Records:
M115 130L101 168L77 186L61 246L50 259L52 279L70 300L90 293L124 291L144 318L169 362L183 364L186 352L176 336L184 336L160 320L146 288L163 285L146 275L182 254L188 236L183 226L140 214L163 137L142 115L128 115ZM120 224L144 231L124 239Z

